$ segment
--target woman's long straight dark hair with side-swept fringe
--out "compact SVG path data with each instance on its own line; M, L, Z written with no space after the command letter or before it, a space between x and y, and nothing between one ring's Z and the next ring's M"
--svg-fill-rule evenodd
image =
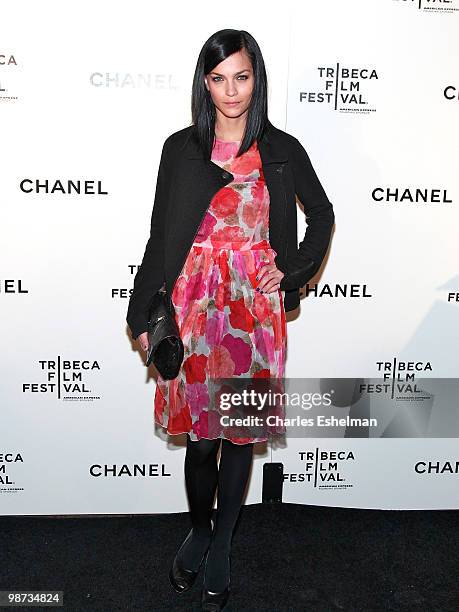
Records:
M247 112L244 136L237 155L242 155L255 140L260 140L268 120L268 79L263 56L254 37L245 30L225 29L212 34L199 53L193 78L191 115L194 134L207 159L215 136L215 105L204 83L204 76L233 53L245 49L254 74L252 99Z

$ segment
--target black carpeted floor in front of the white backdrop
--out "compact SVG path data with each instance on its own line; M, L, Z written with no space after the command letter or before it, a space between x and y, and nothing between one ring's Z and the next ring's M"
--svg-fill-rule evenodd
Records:
M181 595L167 577L187 513L2 517L0 526L0 590L64 591L57 610L200 609L202 569ZM226 610L457 612L459 511L244 506Z

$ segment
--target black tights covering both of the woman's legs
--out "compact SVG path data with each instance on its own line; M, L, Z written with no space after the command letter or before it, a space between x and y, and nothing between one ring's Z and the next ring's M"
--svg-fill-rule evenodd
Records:
M222 448L218 466L220 441ZM222 591L229 580L231 538L241 509L252 457L252 443L235 444L220 438L202 438L194 442L187 435L185 484L193 535L182 549L181 559L187 569L196 570L212 535L205 583L210 591ZM210 518L216 490L217 515L212 534Z

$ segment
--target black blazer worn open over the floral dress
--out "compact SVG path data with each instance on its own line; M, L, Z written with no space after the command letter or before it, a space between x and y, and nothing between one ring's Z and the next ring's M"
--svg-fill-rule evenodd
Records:
M126 317L133 338L147 331L151 299L164 281L171 295L212 197L234 178L204 159L193 127L174 132L163 145L150 237L134 278ZM296 138L268 123L258 150L270 196L269 242L277 253L276 266L285 274L280 288L285 291L284 308L289 311L299 305L299 289L322 264L335 216L309 156ZM307 217L299 246L295 196Z

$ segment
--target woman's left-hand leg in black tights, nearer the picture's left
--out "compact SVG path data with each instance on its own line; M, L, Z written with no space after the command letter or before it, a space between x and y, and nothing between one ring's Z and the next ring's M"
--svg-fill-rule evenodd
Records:
M220 438L192 441L187 435L185 484L193 535L180 552L186 569L198 569L212 535L210 518L217 488L219 446Z

